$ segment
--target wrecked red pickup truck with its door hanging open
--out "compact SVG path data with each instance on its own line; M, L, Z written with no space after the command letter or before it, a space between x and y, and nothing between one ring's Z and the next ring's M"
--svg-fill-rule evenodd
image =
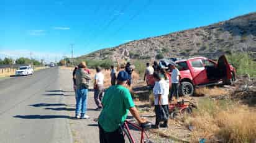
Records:
M166 63L160 64L167 65ZM227 62L224 55L213 61L204 57L175 61L180 71L180 95L191 96L194 88L217 84L232 84L235 80L235 68ZM171 76L171 72L169 73ZM171 86L171 82L170 82Z

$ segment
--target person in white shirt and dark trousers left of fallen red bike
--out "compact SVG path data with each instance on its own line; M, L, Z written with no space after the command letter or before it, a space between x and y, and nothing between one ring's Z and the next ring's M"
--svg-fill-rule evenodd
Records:
M158 129L160 126L160 121L163 121L161 126L163 128L168 128L168 118L169 118L169 109L168 109L168 95L169 95L169 85L165 80L165 76L154 73L153 78L155 79L155 86L153 87L153 95L155 97L155 126L153 128ZM167 77L166 77L167 78ZM166 118L163 120L161 116Z

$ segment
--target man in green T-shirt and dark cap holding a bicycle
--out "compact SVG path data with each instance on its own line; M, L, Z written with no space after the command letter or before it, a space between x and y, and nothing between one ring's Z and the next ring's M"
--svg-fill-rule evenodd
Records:
M124 134L121 126L130 111L139 122L145 123L145 119L139 117L129 89L125 87L129 75L126 71L119 72L117 85L106 90L102 105L103 110L99 115L99 140L101 143L124 142Z

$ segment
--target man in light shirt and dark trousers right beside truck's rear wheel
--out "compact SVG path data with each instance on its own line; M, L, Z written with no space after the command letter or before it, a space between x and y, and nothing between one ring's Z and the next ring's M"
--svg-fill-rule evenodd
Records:
M178 100L178 98L179 98L180 71L176 68L175 64L169 64L168 66L172 69L172 71L171 71L170 101L173 98L173 94L176 95L176 98Z

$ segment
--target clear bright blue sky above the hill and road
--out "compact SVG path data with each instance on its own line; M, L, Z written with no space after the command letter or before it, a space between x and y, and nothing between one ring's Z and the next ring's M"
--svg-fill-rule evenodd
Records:
M59 60L256 11L256 1L0 1L0 58Z

